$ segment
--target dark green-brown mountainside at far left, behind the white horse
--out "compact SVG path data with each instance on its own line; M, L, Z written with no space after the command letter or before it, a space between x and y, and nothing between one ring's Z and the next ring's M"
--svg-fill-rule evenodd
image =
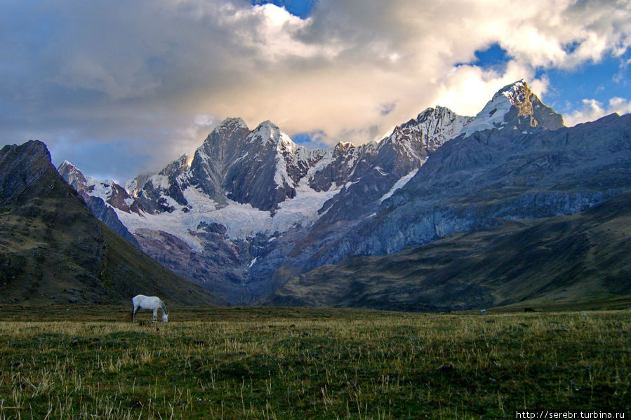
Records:
M127 304L138 293L222 302L95 219L41 142L0 150L0 214L0 302Z

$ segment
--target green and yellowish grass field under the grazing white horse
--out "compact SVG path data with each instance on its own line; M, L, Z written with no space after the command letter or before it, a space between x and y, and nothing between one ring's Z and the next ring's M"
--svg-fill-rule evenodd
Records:
M512 419L631 406L631 311L1 306L0 419Z

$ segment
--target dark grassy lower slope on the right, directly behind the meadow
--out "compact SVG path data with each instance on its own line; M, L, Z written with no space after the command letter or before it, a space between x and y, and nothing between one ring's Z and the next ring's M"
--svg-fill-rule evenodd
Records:
M631 298L631 193L290 278L261 304L406 311Z

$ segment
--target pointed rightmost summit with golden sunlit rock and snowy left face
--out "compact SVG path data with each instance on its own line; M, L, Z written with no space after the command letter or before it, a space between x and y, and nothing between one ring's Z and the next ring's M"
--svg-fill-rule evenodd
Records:
M562 127L561 114L541 102L522 79L498 90L473 121L465 126L463 133L471 135L492 128L529 131L533 128L557 130Z

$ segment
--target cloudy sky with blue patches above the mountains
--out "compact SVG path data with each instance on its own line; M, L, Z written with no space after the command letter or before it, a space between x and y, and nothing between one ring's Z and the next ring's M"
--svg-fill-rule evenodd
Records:
M380 140L526 79L566 125L631 112L628 0L2 0L0 145L124 184L227 117Z

